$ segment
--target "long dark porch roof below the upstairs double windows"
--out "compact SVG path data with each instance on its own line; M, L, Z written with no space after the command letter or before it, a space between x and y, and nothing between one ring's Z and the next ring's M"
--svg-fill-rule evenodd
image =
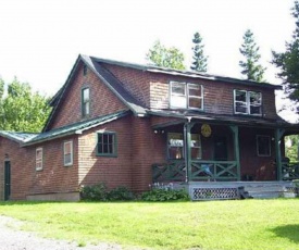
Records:
M299 124L290 124L277 116L277 120L264 118L260 116L249 115L225 115L225 114L211 114L211 113L199 113L196 111L174 111L174 110L151 110L148 112L151 115L163 116L163 117L176 117L177 122L166 122L163 124L154 125L153 128L167 127L173 124L180 124L185 122L204 122L211 124L226 124L226 125L239 125L239 126L263 126L273 128L284 128L289 132L299 133Z

